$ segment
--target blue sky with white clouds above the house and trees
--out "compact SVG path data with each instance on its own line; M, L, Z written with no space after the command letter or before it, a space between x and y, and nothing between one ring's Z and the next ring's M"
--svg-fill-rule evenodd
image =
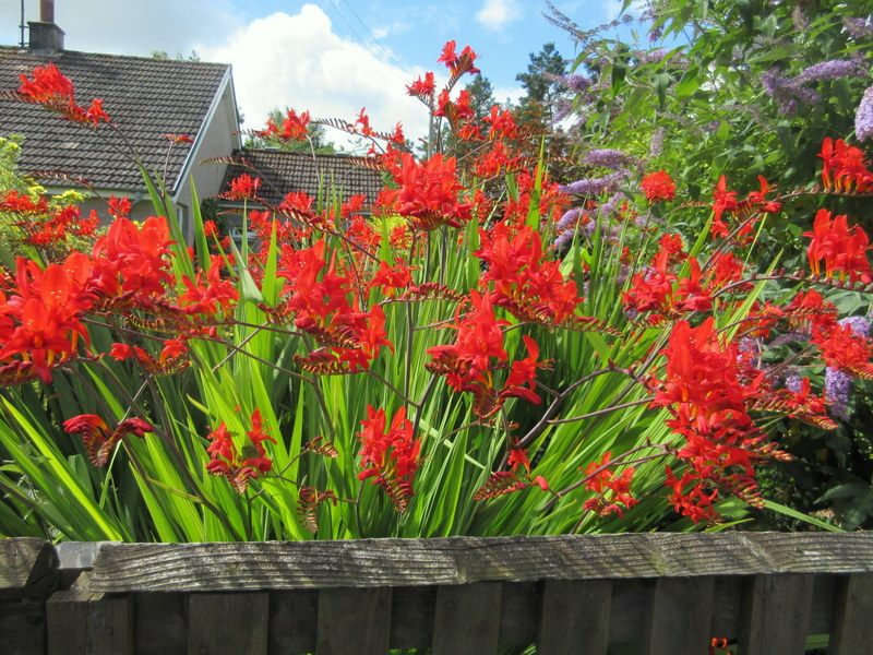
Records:
M19 25L38 20L39 0L0 0L0 44L21 40ZM619 0L553 0L581 27L617 17ZM427 130L427 111L406 85L436 63L443 45L470 46L498 102L522 95L515 76L530 53L554 43L576 55L569 35L543 17L543 0L55 0L55 22L69 50L150 56L196 51L230 63L244 129L260 129L271 109L354 121L407 136ZM61 71L63 72L63 71ZM75 81L73 81L75 82ZM338 141L343 141L339 139Z

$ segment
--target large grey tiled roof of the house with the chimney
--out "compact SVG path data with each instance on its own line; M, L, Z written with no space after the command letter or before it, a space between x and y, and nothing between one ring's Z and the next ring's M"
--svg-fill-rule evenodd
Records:
M159 174L167 156L164 134L196 139L229 69L224 63L71 51L50 60L72 81L79 105L103 98L104 110L119 124L146 169ZM47 58L27 50L0 46L0 90L16 91L21 73L47 63ZM124 147L121 136L108 126L95 134L43 107L0 98L0 136L10 134L25 136L19 159L23 172L62 169L97 188L145 188L137 167L118 152ZM165 180L170 189L190 148L177 145L170 153Z

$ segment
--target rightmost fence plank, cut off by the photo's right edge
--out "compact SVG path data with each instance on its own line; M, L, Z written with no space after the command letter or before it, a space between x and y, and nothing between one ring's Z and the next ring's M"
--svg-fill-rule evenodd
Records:
M873 574L847 575L841 583L828 653L863 653L873 645Z

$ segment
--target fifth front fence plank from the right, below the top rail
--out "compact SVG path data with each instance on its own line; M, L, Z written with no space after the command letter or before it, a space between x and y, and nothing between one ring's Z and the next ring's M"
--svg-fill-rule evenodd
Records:
M433 655L497 653L501 587L499 582L439 587L433 617Z

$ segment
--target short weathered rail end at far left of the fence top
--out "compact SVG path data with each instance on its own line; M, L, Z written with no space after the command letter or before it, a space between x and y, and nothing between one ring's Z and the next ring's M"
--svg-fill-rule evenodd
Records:
M48 541L0 539L0 598L48 593L58 576L58 555Z

